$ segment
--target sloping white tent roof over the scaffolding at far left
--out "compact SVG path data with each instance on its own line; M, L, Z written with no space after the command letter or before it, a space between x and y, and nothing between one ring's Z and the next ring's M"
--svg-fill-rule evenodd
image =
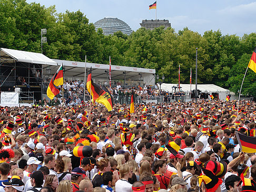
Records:
M25 52L23 50L14 50L1 48L1 59L9 60L12 63L12 59L17 62L33 63L33 64L45 64L45 65L57 65L52 59L46 57L41 53Z

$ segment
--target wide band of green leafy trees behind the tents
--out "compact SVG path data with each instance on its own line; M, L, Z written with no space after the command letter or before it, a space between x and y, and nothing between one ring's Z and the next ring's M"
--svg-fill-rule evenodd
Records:
M85 13L86 14L86 13ZM81 11L56 13L55 6L44 7L25 0L0 0L0 47L41 53L41 29L46 28L43 54L53 59L109 63L154 68L165 83L195 83L195 52L198 48L198 83L215 84L238 93L255 47L256 33L223 35L220 30L203 35L184 27L139 28L131 35L116 32L104 36L95 31ZM256 74L248 69L242 94L256 96Z

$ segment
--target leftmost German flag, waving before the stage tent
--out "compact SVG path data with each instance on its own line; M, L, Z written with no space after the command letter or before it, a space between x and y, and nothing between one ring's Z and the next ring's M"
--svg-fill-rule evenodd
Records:
M60 93L58 86L63 85L63 67L58 68L47 88L47 96L53 99Z

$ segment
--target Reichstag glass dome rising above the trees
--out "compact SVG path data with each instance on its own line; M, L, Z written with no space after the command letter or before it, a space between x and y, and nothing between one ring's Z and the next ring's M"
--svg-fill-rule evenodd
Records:
M129 25L118 18L104 17L94 23L95 30L102 28L104 35L114 34L115 32L121 31L123 34L130 35L132 29Z

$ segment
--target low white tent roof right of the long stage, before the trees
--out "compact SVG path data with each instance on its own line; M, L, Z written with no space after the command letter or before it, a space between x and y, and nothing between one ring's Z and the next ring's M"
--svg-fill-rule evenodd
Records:
M167 84L163 83L161 89L172 92L172 87L179 87L177 84ZM190 84L180 84L181 91L190 92ZM191 90L195 89L195 84L191 85ZM177 90L177 89L176 89ZM214 84L198 84L198 90L201 90L202 93L220 93L220 92L229 92L229 89L224 89ZM174 89L173 89L174 91Z

